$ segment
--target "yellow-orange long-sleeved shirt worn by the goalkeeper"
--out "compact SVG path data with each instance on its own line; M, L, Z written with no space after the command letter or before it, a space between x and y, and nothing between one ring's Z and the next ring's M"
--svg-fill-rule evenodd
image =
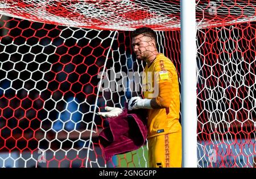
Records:
M179 131L180 91L172 61L159 53L150 66L146 65L142 84L144 98L156 98L159 106L148 110L148 138Z

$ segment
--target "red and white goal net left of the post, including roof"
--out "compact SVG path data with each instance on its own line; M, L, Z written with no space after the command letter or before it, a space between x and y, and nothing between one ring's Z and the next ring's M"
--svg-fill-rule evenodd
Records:
M141 95L127 79L144 66L130 30L154 28L159 51L180 69L179 9L169 10L179 2L154 3L0 2L0 166L148 166L147 144L104 160L97 137L108 123L96 113Z

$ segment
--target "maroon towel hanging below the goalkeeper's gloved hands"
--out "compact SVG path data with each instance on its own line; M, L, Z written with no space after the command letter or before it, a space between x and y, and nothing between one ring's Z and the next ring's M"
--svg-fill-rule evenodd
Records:
M113 155L134 151L144 144L147 138L146 116L146 110L128 111L126 104L120 115L107 119L109 127L99 135L106 161Z

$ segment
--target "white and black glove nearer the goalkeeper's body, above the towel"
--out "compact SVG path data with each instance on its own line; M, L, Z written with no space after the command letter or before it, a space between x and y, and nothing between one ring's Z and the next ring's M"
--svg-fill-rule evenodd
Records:
M151 99L142 99L141 97L132 97L128 103L128 110L134 109L152 109Z

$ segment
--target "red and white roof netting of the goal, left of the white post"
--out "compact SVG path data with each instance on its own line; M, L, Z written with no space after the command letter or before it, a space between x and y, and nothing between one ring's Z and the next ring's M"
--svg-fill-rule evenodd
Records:
M179 27L179 1L3 1L0 12L49 24L100 30Z

